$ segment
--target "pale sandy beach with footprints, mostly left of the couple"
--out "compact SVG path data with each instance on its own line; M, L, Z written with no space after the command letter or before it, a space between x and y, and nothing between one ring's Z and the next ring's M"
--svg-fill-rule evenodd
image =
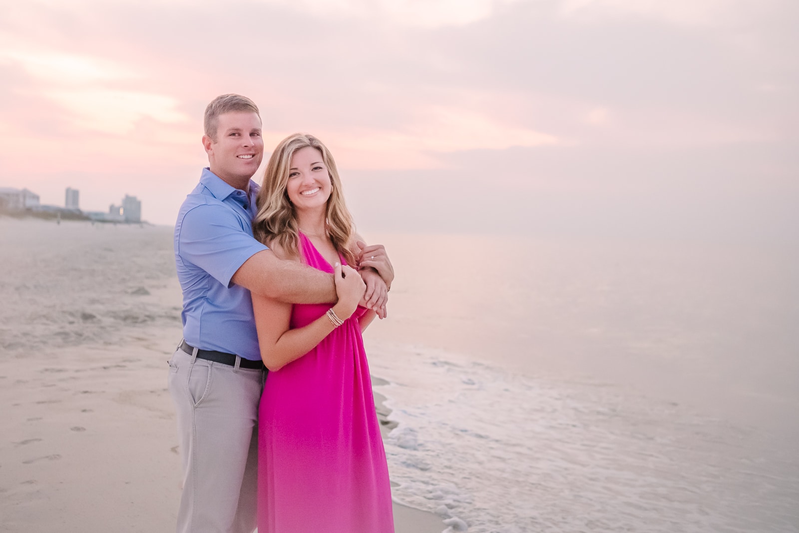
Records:
M0 220L0 531L173 530L170 233ZM446 527L399 503L395 516L398 533Z

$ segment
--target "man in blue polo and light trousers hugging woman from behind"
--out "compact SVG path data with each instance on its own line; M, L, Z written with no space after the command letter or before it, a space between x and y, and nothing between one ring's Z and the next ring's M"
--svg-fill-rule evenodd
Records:
M256 527L257 414L264 366L250 293L288 303L336 301L332 275L280 261L252 237L264 154L257 106L225 94L205 109L209 167L175 225L184 340L169 360L184 470L178 533ZM360 244L359 244L360 245ZM385 314L393 280L383 246L361 247L368 306Z

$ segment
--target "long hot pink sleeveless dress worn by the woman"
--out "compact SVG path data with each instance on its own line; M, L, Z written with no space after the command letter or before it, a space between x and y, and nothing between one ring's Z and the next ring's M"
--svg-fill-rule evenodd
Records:
M300 233L308 265L333 272ZM344 262L342 260L342 262ZM295 304L291 327L330 304ZM259 533L393 533L391 486L356 313L269 372L260 398Z

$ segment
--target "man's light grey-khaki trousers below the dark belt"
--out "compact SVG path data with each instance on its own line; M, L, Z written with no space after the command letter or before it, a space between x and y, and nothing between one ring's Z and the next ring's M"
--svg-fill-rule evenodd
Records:
M178 348L169 360L184 472L177 533L252 533L264 372L196 352Z

